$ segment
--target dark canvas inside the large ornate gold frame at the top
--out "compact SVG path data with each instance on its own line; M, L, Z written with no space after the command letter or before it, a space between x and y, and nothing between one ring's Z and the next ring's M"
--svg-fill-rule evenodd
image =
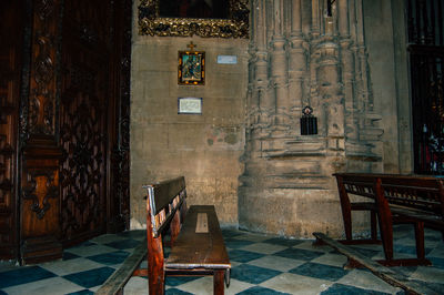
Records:
M161 18L228 19L229 0L160 0Z

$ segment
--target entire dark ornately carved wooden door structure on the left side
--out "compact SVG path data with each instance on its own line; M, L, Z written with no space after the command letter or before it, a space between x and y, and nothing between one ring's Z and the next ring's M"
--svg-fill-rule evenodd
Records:
M0 260L128 228L131 10L0 1Z

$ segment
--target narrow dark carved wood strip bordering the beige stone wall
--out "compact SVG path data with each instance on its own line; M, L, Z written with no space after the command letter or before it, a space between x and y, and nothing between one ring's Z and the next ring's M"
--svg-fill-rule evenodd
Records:
M114 71L113 81L114 125L111 124L112 146L111 185L109 196L108 231L118 232L130 227L130 77L131 77L131 31L132 1L114 2Z

